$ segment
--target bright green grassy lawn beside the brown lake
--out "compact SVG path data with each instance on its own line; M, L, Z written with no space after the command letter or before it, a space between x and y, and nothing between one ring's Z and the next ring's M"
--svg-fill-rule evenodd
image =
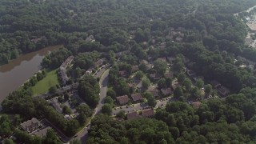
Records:
M49 90L50 86L56 86L58 84L56 71L57 69L47 71L46 77L32 87L33 95L44 94Z

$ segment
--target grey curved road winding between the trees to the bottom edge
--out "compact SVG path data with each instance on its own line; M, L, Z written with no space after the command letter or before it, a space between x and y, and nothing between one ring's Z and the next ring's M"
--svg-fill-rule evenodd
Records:
M109 71L110 71L110 69L103 72L102 77L99 81L99 83L100 83L100 100L98 101L98 106L94 110L94 114L93 114L92 118L94 118L94 116L102 110L102 106L104 105L103 99L106 97L107 83L109 81ZM89 129L90 129L90 122L87 124L87 126L83 130L81 130L77 134L75 139L81 140L82 144L86 143Z

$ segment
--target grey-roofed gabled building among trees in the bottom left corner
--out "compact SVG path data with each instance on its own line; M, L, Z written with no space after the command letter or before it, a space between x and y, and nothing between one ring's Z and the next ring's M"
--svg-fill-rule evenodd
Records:
M39 126L40 126L40 122L38 121L37 118L32 118L31 120L28 120L21 124L22 129L27 132L32 132L38 129Z

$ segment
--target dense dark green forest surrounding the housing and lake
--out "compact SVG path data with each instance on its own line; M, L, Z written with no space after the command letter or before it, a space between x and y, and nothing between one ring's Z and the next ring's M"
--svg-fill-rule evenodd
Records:
M3 113L19 120L10 122L6 116L1 117L0 135L9 136L15 131L17 142L60 143L51 130L46 138L15 130L21 122L18 117L47 118L72 137L99 100L97 79L79 79L98 58L106 58L113 65L109 75L113 90L108 90L107 96L114 99L134 93L119 71L125 70L129 76L136 65L137 78L152 73L163 76L167 64L158 58L174 57L171 68L178 82L183 82L174 91L177 102L156 109L153 118L118 121L99 114L91 122L87 143L255 142L256 66L242 68L245 62L238 56L255 62L256 50L244 46L247 28L240 17L233 15L254 5L254 0L0 1L0 65L20 54L62 44L65 48L47 55L42 66L56 69L74 55L74 65L67 73L72 82L79 83L78 94L88 103L78 107L77 119L67 121L46 100L32 97L33 84L27 84L2 102ZM91 35L95 42L88 40ZM120 52L125 53L118 59ZM150 70L140 63L148 58L153 59L154 68ZM185 58L194 62L190 69L202 75L204 83L217 80L231 94L201 101L198 108L188 104L188 98L201 96L198 88L190 90L191 81L183 73ZM173 79L161 80L158 87L170 87ZM148 87L149 82L143 79L142 85ZM216 93L210 85L206 87L209 93Z

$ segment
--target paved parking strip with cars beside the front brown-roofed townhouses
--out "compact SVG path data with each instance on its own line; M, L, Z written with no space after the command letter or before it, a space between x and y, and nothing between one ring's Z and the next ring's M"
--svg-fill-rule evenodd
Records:
M167 102L174 102L174 101L175 101L174 98L170 98L170 97L169 98L162 98L162 99L157 101L158 103L156 105L156 108L166 106ZM130 106L115 107L113 112L112 112L112 115L118 114L118 112L121 111L121 110L125 110L126 113L130 113L130 112L135 111L135 110L146 109L147 107L149 107L147 104L140 104L140 103L130 105Z

